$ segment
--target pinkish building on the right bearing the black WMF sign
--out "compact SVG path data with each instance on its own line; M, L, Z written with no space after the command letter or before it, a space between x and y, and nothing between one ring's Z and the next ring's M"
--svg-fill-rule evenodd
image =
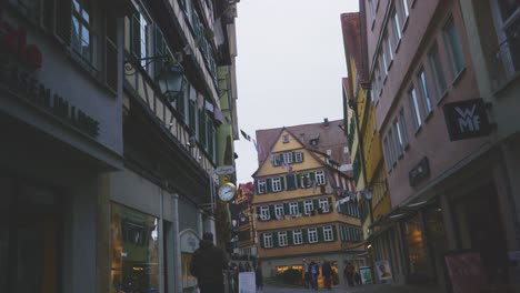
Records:
M504 171L494 146L489 120L500 114L481 99L486 74L462 6L364 0L360 10L392 205L386 222L398 228L391 243L404 276L394 281L449 285L444 254L471 250L484 267L480 287L511 282L516 203L504 178L514 168Z

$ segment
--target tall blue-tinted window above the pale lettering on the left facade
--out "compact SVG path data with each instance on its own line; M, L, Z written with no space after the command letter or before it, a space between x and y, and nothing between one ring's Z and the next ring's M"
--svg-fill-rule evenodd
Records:
M82 60L93 65L94 32L92 6L88 0L72 1L71 48Z

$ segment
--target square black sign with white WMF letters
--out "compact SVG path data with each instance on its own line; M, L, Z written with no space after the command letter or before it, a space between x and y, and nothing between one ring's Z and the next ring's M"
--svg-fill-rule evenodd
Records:
M451 141L486 137L491 132L482 99L447 103L443 110Z

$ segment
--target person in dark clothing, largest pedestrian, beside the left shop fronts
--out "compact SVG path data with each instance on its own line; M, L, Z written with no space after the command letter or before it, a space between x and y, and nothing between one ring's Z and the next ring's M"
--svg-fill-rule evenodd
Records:
M214 246L213 234L206 232L190 263L190 273L197 277L200 293L223 293L223 270L227 267L228 256Z

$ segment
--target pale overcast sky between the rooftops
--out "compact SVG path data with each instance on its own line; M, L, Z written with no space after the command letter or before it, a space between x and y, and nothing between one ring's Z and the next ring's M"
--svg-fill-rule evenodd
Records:
M340 14L357 0L241 0L237 18L238 124L259 129L342 118L347 64ZM251 142L234 142L237 183L258 169Z

